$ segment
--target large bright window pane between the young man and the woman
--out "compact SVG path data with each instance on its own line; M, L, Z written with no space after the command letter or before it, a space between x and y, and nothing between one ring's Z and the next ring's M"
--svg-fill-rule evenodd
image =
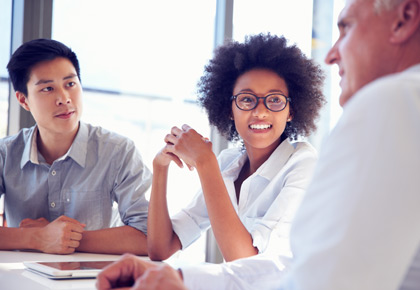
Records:
M81 66L82 120L132 139L150 169L172 126L209 136L195 92L212 57L215 9L215 1L196 0L54 1L52 38L70 46ZM195 172L176 165L169 176L175 213L200 185ZM203 238L187 249L198 249L188 255L195 261L204 261Z

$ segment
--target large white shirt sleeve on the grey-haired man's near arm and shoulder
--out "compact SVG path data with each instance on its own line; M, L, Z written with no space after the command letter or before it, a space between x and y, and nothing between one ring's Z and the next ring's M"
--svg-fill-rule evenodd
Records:
M420 243L418 91L386 79L346 104L296 215L284 289L399 289Z

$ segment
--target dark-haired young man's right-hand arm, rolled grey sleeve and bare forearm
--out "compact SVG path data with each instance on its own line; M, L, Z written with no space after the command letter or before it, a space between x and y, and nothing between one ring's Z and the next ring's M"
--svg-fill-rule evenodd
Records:
M86 231L77 251L147 255L148 201L145 195L152 175L132 141L125 140L117 149L119 152L112 160L115 166L112 167L110 194L118 204L124 226Z

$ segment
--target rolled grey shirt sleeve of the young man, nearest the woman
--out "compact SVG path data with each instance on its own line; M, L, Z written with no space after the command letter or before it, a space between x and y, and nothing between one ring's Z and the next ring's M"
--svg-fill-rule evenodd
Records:
M147 234L148 201L146 192L152 182L152 174L143 163L134 143L127 140L117 155L117 175L113 194L118 203L120 217L125 225Z

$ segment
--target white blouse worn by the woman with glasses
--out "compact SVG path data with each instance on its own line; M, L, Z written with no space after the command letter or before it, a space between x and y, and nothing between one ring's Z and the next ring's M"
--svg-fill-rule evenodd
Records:
M283 141L243 182L238 202L234 182L247 158L246 151L241 148L226 149L218 157L231 202L260 253L287 252L290 223L311 179L317 160L316 150L307 142ZM202 190L186 208L172 217L172 227L183 249L210 227ZM273 231L275 235L272 235ZM270 242L274 240L275 243Z

